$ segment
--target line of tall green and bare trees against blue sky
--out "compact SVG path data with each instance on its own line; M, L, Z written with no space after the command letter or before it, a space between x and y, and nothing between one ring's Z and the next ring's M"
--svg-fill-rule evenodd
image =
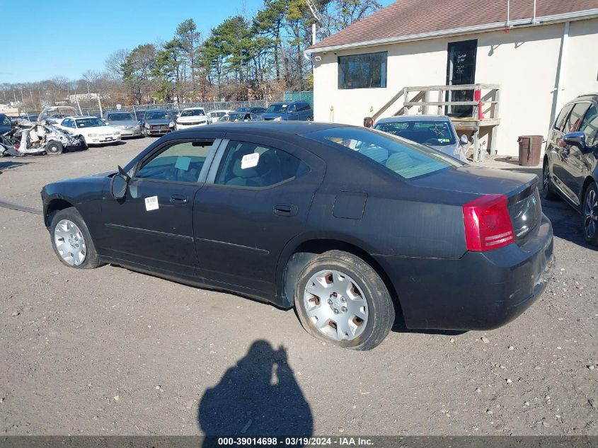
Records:
M312 3L321 15L318 39L381 8L377 0ZM0 84L0 101L17 100L37 110L88 92L114 104L280 98L282 91L312 88L304 50L311 45L314 22L306 0L264 0L253 16L226 18L207 36L188 18L170 40L117 50L103 71L88 70L79 80Z

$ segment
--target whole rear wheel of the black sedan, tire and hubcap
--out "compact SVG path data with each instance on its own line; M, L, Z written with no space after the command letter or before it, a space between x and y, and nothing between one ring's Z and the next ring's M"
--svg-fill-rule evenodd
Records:
M294 302L308 333L342 348L371 350L394 322L393 302L379 275L343 251L328 251L307 263Z

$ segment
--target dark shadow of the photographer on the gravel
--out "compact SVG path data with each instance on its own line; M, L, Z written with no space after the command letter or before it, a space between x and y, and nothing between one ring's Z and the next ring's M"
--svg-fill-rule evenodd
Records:
M287 351L256 340L202 396L197 415L204 447L218 437L309 437L311 408L289 367Z

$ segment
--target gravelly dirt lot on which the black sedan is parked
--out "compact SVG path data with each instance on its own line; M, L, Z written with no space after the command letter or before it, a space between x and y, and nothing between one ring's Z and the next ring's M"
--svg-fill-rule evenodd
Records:
M148 142L0 159L0 198L40 207L45 183L113 169ZM0 430L598 435L598 253L563 202L544 212L556 277L523 316L489 332L397 323L376 350L352 352L311 338L293 311L66 268L40 216L0 208Z

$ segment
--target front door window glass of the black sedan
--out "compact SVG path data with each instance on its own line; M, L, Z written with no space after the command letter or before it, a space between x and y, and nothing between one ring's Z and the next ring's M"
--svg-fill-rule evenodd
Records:
M145 161L136 178L195 183L214 140L171 144Z

